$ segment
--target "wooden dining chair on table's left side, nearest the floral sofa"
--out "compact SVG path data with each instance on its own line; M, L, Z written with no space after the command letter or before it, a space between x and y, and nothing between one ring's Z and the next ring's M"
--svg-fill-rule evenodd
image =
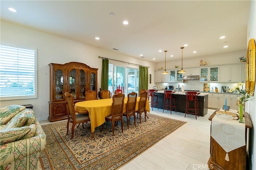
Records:
M69 129L69 123L72 123L72 135L71 135L71 139L73 139L74 137L74 129L75 129L75 125L78 123L87 123L88 121L90 121L89 115L88 114L76 114L76 113L83 113L80 111L76 111L75 110L75 105L74 105L74 98L72 96L72 94L66 92L65 93L66 96L66 101L67 101L67 105L68 105L68 122L67 122L67 134L68 135L68 129ZM83 128L84 128L84 124L83 124Z

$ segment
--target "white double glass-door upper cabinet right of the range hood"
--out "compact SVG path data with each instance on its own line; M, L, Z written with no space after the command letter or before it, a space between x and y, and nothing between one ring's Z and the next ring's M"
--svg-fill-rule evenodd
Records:
M200 68L200 82L218 82L218 76L218 66Z

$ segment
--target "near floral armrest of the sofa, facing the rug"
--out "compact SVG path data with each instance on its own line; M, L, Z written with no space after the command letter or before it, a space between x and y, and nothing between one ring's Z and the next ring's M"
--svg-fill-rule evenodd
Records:
M34 137L0 145L1 165L22 160L24 157L44 150L46 145L46 135L38 120L36 120L35 124L36 134Z

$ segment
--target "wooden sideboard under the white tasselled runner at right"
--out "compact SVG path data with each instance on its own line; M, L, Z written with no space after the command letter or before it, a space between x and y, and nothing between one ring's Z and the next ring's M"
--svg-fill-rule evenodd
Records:
M216 111L210 115L210 121L212 121L212 118L216 115ZM252 121L247 112L244 113L244 118L246 141L247 129L252 128ZM224 159L225 155L226 151L222 149L222 147L212 137L210 137L210 158L208 160L208 168L214 170L246 170L246 145L228 152L229 161Z

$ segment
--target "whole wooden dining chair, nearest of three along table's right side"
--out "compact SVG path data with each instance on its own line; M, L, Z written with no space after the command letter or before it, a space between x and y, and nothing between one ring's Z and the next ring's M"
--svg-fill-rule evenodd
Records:
M124 94L114 94L112 97L112 108L111 108L111 115L105 117L106 121L111 121L112 122L112 133L113 136L114 134L114 122L121 120L121 127L122 127L122 132L124 132L124 127L123 127L123 110L124 110ZM102 128L100 131L103 130L104 124L102 125Z

